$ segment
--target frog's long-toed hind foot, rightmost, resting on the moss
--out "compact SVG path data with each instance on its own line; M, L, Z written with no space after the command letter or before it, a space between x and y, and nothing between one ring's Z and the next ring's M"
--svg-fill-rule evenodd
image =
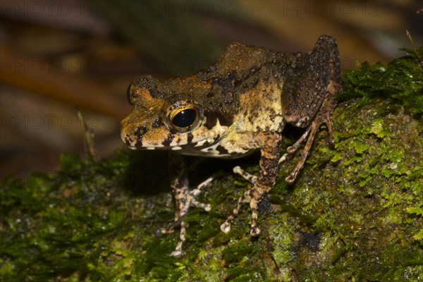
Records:
M333 95L328 94L321 106L320 111L317 113L316 118L314 118L314 121L312 121L307 130L305 130L305 133L300 137L300 139L297 140L297 142L295 142L292 146L288 147L287 152L289 154L293 154L295 151L297 151L298 147L300 147L301 143L308 137L307 142L305 143L304 150L301 154L301 159L300 161L298 161L298 164L297 166L295 166L294 170L290 173L290 176L285 178L286 182L293 183L298 175L298 172L300 171L302 166L304 166L305 160L307 159L310 149L312 148L314 137L316 136L317 130L319 130L320 125L326 123L329 131L329 143L333 144L335 142L335 138L333 137L332 121L332 111L335 104L336 103L333 100ZM285 155L283 155L283 157L285 157ZM283 159L283 157L281 159ZM279 163L281 163L281 160L279 160Z

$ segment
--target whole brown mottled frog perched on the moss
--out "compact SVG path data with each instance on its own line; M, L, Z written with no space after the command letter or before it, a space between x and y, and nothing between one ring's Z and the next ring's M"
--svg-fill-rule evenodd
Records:
M260 234L257 207L276 183L279 166L302 143L304 148L293 171L293 183L304 166L314 137L322 124L334 144L332 113L341 92L341 67L334 37L321 35L307 53L272 51L233 42L219 61L195 75L160 81L142 75L128 87L133 107L121 122L121 139L130 149L167 150L169 176L176 202L174 223L157 229L157 235L180 226L178 244L171 256L183 255L185 216L191 207L205 211L210 204L196 200L216 173L190 188L183 155L235 159L259 152L256 175L235 166L234 173L250 186L221 224L228 233L243 204L251 212L250 235ZM287 124L304 133L281 154L282 130Z

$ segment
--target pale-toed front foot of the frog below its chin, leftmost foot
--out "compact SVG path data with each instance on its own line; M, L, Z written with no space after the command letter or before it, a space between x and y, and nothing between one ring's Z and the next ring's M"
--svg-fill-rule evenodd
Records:
M188 190L188 188L184 188L175 194L176 200L176 212L175 212L175 222L169 228L159 228L156 231L157 235L161 234L168 234L173 233L177 226L180 226L180 233L179 233L179 241L178 245L176 245L175 250L171 253L172 257L180 257L182 255L182 245L185 241L185 234L186 228L188 224L185 223L183 220L185 216L188 214L190 207L200 207L204 209L204 211L209 212L212 208L210 204L204 204L202 202L198 202L195 200L195 197L200 195L204 188L207 188L211 185L212 180L216 178L217 173L214 176L207 178L204 182L197 185L195 189Z

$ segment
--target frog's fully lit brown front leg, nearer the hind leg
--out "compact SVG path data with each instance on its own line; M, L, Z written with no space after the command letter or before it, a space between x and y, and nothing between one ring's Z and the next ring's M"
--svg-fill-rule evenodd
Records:
M231 221L238 216L241 204L250 203L252 216L250 234L252 236L257 236L260 233L260 229L257 228L257 206L259 202L262 201L264 195L266 195L275 185L278 173L281 134L274 131L255 133L255 135L243 137L243 140L243 142L245 142L245 144L243 144L244 147L248 149L260 149L260 170L256 177L246 173L239 167L234 168L234 171L249 180L252 186L239 198L232 214L228 216L228 219L221 225L221 231L223 231L223 233L228 233L231 230Z

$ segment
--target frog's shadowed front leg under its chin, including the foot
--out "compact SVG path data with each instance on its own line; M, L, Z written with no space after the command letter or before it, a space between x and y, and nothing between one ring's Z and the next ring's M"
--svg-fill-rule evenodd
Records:
M182 156L176 154L169 154L169 173L171 177L171 188L173 197L175 198L175 222L169 228L159 228L157 234L173 233L176 226L180 225L180 235L178 245L171 253L172 257L180 257L182 255L182 244L185 241L185 233L187 224L183 220L188 214L190 207L201 207L206 212L211 209L209 204L204 204L195 200L195 197L200 195L200 192L208 187L216 175L207 178L204 182L197 185L195 189L189 189L188 172L185 166L185 161Z

